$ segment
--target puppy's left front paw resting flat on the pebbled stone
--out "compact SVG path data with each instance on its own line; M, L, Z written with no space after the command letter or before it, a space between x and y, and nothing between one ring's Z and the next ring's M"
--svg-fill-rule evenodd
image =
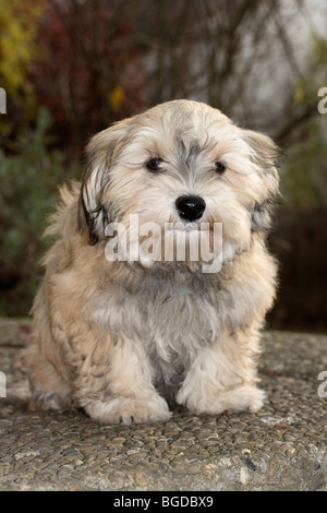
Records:
M171 416L162 397L137 399L116 397L108 402L96 402L85 407L86 413L101 423L140 423L168 420Z

